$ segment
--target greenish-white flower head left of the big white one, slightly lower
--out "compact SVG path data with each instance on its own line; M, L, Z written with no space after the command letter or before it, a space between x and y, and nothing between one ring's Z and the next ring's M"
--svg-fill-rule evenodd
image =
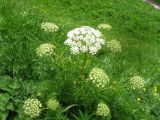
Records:
M50 56L54 53L55 46L49 43L44 43L40 45L36 51L37 55L40 57Z

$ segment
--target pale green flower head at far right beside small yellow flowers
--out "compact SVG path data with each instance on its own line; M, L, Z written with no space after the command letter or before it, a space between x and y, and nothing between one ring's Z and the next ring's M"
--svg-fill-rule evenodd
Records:
M133 76L130 83L132 89L143 89L145 86L145 80L141 76Z

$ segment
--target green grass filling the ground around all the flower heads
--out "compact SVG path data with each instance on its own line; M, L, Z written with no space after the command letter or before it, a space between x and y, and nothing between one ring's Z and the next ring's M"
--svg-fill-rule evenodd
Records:
M22 16L24 11L27 12L26 16ZM154 105L158 106L159 103L153 101L151 96L144 97L141 103L132 101L133 98L142 96L129 95L131 93L125 89L125 85L131 76L141 75L149 81L149 94L153 86L159 83L159 14L160 11L141 0L0 0L0 74L10 76L13 80L22 79L22 84L26 85L25 88L18 88L22 92L14 95L14 99L18 96L23 101L30 96L35 97L40 91L45 94L39 98L44 104L55 92L62 107L71 104L80 106L71 108L65 114L44 112L38 120L63 120L66 119L65 116L77 120L96 119L91 114L95 107L93 99L99 99L97 96L108 103L113 120L158 120L159 108ZM60 30L55 34L45 33L40 28L43 21L56 23ZM111 85L115 85L119 92L107 91L107 95L102 93L95 96L92 90L88 90L90 95L85 96L86 91L83 93L83 90L87 90L85 87L88 86L78 87L76 92L68 87L73 80L79 79L77 76L83 56L70 55L63 42L68 31L83 25L96 28L100 23L112 25L113 29L103 31L103 34L108 41L120 41L122 52L112 54L104 51L91 56L85 74L88 75L94 67L103 68L110 77ZM37 70L37 66L45 63L36 57L35 49L45 42L53 43L57 54L64 52L64 56L59 61L48 63L54 70L44 72ZM79 100L83 97L88 99ZM21 109L20 105L23 105L22 102L15 102L15 109ZM150 108L149 113L145 111L147 107ZM15 112L20 114L19 111ZM11 113L10 110L9 114ZM16 113L13 116L17 116Z

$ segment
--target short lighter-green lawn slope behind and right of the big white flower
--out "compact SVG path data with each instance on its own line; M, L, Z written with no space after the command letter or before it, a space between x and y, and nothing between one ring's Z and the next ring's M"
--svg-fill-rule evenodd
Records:
M55 38L60 46L65 33L82 25L97 26L109 23L111 32L104 32L106 39L118 39L123 52L116 55L114 61L105 61L102 56L99 65L110 74L122 75L139 73L146 77L155 74L158 69L160 44L160 11L139 1L128 0L37 0L22 2L26 10L40 11L44 21L51 21L61 26L62 37ZM39 38L41 39L41 38ZM122 77L122 76L121 76ZM124 76L123 76L124 77Z

